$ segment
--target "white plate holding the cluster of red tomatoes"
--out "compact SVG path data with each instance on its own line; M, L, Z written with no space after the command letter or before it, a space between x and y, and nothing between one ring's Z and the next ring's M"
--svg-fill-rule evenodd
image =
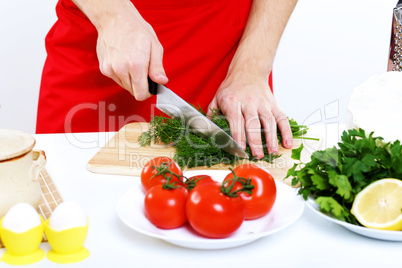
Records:
M215 180L220 181L228 172L192 171L185 173L186 176L195 174L211 175ZM140 185L123 195L117 205L117 214L128 227L135 231L177 246L195 249L231 248L279 232L294 223L302 215L304 200L297 195L296 189L282 182L276 182L276 187L277 199L272 210L260 219L244 221L233 235L224 239L205 238L196 234L189 225L173 230L155 227L144 216L144 193Z

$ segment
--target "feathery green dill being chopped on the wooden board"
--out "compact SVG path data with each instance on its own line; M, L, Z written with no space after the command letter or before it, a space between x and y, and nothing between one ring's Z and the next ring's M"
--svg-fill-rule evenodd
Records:
M205 113L201 111L204 115ZM230 135L229 123L226 118L214 111L210 117L211 121ZM307 133L308 128L298 125L293 119L289 119L293 137L298 138ZM195 134L191 127L183 124L178 118L166 116L154 116L150 122L150 129L141 134L139 143L141 146L150 145L152 141L156 143L170 144L175 147L176 154L174 160L181 167L213 166L216 164L233 165L239 157L231 155L220 148L214 146L211 138L205 138ZM273 162L280 155L269 154L266 146L265 135L261 133L262 144L264 145L264 157L259 161ZM278 140L282 140L278 130ZM252 157L251 149L247 145L246 153L250 160L257 161Z

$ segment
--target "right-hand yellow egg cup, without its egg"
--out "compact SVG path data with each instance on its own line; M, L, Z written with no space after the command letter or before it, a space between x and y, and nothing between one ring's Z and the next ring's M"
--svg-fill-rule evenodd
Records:
M88 233L88 221L86 226L74 227L62 231L56 231L49 226L49 219L44 222L45 234L52 249L47 253L47 258L55 263L75 263L86 259L89 251L84 247Z

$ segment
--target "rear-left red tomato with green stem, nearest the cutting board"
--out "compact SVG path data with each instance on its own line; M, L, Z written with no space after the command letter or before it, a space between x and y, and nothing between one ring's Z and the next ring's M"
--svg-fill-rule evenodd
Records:
M183 172L180 166L172 158L164 156L155 157L148 161L142 169L141 184L144 191L147 192L154 185L166 183L167 178L172 176L170 183L176 182L176 185L183 185L180 177L182 175Z

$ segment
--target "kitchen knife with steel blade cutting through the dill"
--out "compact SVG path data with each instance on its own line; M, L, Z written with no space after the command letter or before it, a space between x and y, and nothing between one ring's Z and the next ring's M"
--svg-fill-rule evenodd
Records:
M173 91L155 83L150 78L148 78L148 85L149 92L156 95L156 108L170 117L181 119L186 127L191 126L197 134L206 138L212 137L215 147L241 158L249 158L230 135Z

